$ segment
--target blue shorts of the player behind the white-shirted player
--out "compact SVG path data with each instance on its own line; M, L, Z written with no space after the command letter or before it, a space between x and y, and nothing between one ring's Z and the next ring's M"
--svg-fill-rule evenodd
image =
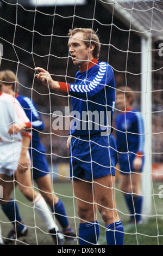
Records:
M32 171L34 180L41 178L49 173L45 152L42 150L39 152L33 149L32 154L30 152L30 157L32 159Z

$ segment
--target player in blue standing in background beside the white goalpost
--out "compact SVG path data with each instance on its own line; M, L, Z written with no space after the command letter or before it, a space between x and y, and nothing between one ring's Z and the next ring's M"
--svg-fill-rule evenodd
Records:
M116 141L120 164L120 189L129 212L130 223L142 223L141 173L144 163L144 128L139 111L133 109L134 92L130 87L118 87L116 105Z

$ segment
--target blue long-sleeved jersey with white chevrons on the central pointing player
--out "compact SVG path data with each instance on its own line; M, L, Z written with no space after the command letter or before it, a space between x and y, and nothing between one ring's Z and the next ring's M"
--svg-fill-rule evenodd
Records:
M73 120L69 134L92 135L112 132L112 114L115 106L115 79L112 68L106 62L76 73L70 85Z

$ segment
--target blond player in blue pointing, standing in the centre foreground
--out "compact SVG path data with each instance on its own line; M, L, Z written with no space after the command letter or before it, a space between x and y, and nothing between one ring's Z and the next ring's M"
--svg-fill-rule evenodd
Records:
M98 61L101 44L89 28L68 33L68 49L79 67L74 84L54 81L43 68L36 78L51 90L71 96L74 111L69 134L70 175L77 199L79 245L97 244L97 209L106 226L108 245L123 245L124 230L115 203L117 148L111 134L115 104L115 80L108 63ZM87 113L86 117L82 117ZM102 118L101 125L96 123Z

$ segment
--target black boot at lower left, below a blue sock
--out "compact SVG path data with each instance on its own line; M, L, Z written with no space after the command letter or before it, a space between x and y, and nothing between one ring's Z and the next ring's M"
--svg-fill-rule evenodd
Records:
M7 235L7 237L3 239L4 245L8 245L9 243L12 243L14 242L15 239L18 239L22 236L27 236L27 234L28 234L28 229L26 227L24 227L21 231L16 230L16 232L15 232L15 229L12 229Z

